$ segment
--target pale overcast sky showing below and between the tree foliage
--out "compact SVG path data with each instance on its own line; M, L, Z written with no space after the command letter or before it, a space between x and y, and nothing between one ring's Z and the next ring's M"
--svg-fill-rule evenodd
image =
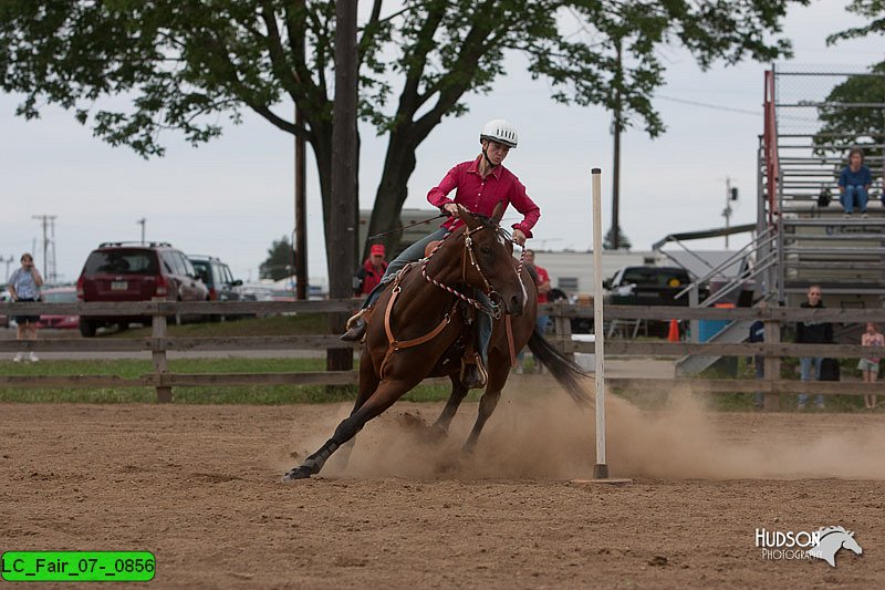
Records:
M823 0L791 10L784 31L793 41L791 63L837 69L885 60L882 37L825 45L827 34L858 23L844 11L846 3ZM660 54L668 68L667 85L654 104L667 132L655 141L642 131L622 136L621 225L634 250L646 250L674 231L721 226L726 177L740 189L732 225L756 219L762 80L769 65L716 65L705 73L684 51L664 49ZM427 207L427 190L454 164L477 154L482 124L508 118L519 130L520 145L506 165L542 211L533 246L587 249L593 167L603 169L603 226L610 225L611 116L602 108L553 103L548 85L531 81L519 58L508 63L508 75L492 94L471 96L467 115L445 120L421 145L406 206ZM98 242L139 239L137 221L143 217L147 239L170 241L187 253L218 256L243 280L257 279L271 242L291 235L292 137L257 115L244 113L242 125L228 126L220 139L199 148L167 133L166 157L145 162L128 148L93 138L60 108L44 108L39 121L15 117L19 102L18 96L0 94L0 256L14 258L10 270L34 245L43 268L42 228L33 218L39 215L56 216L58 271L66 281L76 280ZM361 207L369 208L386 144L366 125L361 132ZM325 282L312 161L308 172L309 272ZM698 247L721 248L722 240Z

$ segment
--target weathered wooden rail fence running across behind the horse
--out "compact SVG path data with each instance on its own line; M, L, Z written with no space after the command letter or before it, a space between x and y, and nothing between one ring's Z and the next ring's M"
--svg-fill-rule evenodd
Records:
M236 315L275 313L342 313L356 307L354 300L327 301L225 301L225 302L176 302L145 301L126 303L0 303L0 314L79 314L84 317L131 315L152 317L149 338L92 338L92 339L38 339L34 341L0 340L0 353L20 350L42 352L149 352L154 363L152 373L137 379L116 375L6 375L0 376L0 387L124 387L148 386L157 391L157 400L171 401L174 386L207 385L346 385L357 382L356 371L329 371L303 373L171 373L168 371L169 351L243 351L243 350L329 350L356 348L342 342L337 334L275 335L275 337L216 337L192 338L167 335L167 318L176 315ZM593 318L592 306L572 306L563 302L544 304L541 312L554 319L554 334L549 335L561 351L593 353L592 342L571 339L570 320ZM766 325L764 343L718 344L639 340L606 340L606 356L683 356L706 354L725 356L763 355L766 380L739 379L674 379L667 387L685 385L693 391L710 393L763 392L766 406L774 408L780 393L824 394L885 394L885 384L860 382L800 382L780 379L781 359L785 356L860 358L870 352L860 345L846 344L794 344L781 342L781 327L799 320L856 323L885 322L885 309L708 309L687 307L634 307L606 306L606 320L762 320ZM617 390L649 391L659 387L660 380L607 379L606 383Z

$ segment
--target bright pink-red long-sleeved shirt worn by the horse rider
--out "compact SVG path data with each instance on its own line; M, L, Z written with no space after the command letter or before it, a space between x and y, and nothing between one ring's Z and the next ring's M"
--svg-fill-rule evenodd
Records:
M462 162L451 168L439 183L439 186L430 189L427 194L427 200L430 201L430 205L439 208L447 203L456 203L467 207L470 213L487 217L491 217L499 200L503 201L504 210L508 205L513 205L522 214L523 218L522 221L513 224L512 227L522 230L527 238L531 238L532 227L538 222L538 218L541 217L541 209L525 194L525 187L519 182L519 178L503 166L492 168L491 174L482 178L479 175L480 157L482 156L473 161ZM452 200L447 195L454 188L458 190L455 193L455 199ZM460 219L454 217L442 224L442 227L451 229L459 221Z

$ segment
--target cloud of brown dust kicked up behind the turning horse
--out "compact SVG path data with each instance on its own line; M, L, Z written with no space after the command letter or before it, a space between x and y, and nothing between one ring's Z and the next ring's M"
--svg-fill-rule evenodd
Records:
M666 382L662 382L662 387ZM589 392L593 383L586 384ZM688 391L662 392L663 410L608 395L607 464L613 477L667 479L885 479L885 417L861 414L723 413ZM441 404L396 404L369 422L322 472L329 477L407 479L570 479L595 462L593 407L581 410L544 377L512 380L473 453L461 445L477 404L464 404L447 437L429 425ZM342 408L337 420L346 417ZM333 432L299 441L304 453ZM302 455L303 457L303 455Z

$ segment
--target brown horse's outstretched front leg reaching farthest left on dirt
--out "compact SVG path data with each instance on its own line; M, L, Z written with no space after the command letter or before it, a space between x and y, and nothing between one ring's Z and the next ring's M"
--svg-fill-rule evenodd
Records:
M326 441L315 453L304 459L301 465L290 469L283 475L283 482L305 479L320 473L320 469L323 468L323 465L325 465L325 462L332 456L332 453L356 436L356 433L362 431L363 426L365 426L369 420L391 407L394 402L416 384L417 382L414 380L383 381L360 410L355 411L339 424L332 438Z

